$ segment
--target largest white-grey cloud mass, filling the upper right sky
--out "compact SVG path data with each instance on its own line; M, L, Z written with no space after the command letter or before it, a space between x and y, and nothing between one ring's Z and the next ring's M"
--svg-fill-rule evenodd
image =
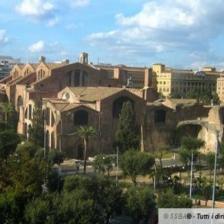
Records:
M134 15L117 14L114 30L92 33L87 40L135 57L180 50L187 57L208 51L217 36L224 36L223 14L222 0L148 0Z

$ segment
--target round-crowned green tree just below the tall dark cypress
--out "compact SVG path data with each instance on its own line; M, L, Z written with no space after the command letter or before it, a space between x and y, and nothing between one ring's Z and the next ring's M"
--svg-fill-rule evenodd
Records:
M148 174L151 167L155 164L155 159L150 154L128 150L122 155L119 164L123 174L129 176L136 185L137 175Z

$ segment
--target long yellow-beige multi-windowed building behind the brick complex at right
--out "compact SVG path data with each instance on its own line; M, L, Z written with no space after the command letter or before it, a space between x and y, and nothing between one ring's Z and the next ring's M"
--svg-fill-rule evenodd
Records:
M216 91L216 80L220 76L215 68L205 67L199 72L167 68L163 64L152 66L156 76L157 91L163 96L185 97L190 92Z

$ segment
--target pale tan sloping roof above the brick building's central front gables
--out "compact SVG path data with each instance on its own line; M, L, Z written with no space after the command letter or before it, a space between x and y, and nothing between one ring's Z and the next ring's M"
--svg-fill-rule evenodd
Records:
M68 87L80 101L95 102L124 90L114 87Z

